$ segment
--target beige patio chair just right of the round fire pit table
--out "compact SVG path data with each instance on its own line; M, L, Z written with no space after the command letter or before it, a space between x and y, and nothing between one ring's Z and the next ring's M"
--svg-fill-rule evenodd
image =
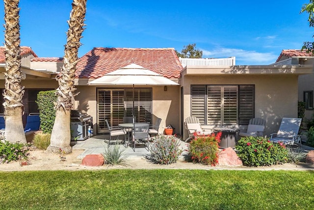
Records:
M239 136L262 136L265 128L265 120L262 118L253 118L249 121L247 130L239 132Z

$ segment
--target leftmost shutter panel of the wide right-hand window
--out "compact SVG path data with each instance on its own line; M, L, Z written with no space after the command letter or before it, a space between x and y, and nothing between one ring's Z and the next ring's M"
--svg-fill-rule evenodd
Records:
M191 116L197 117L205 124L206 86L191 86Z

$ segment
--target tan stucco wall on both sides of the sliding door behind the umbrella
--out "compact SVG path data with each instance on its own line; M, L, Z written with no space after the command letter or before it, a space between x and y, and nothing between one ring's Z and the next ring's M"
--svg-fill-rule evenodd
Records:
M108 88L108 87L106 87ZM118 88L118 87L114 87ZM75 108L84 110L93 117L94 133L97 132L97 90L96 86L77 86L78 92L76 97ZM163 133L164 127L171 124L176 128L176 133L180 131L180 87L164 86L152 87L153 98L153 123L157 118L161 119L159 133Z

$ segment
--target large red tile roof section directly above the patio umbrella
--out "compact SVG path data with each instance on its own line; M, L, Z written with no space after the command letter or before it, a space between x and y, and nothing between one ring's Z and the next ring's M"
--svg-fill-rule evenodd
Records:
M174 48L93 48L76 66L76 78L99 78L131 63L166 78L179 78L183 70Z

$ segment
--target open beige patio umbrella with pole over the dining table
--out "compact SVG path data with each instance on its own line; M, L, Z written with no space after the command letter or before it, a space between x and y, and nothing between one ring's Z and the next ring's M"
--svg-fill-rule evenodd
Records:
M134 86L150 85L150 86L169 86L179 85L178 83L163 77L153 71L148 70L140 65L132 63L125 67L105 74L104 76L93 80L89 85L132 85L133 86L133 107L132 116L134 117Z

